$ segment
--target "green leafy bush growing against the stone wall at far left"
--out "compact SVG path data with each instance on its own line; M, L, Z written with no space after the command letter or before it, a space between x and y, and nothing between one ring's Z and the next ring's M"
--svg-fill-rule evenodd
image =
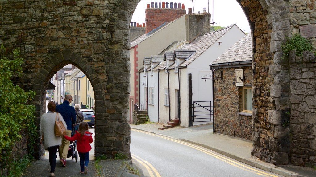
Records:
M35 92L26 92L14 85L11 80L13 76L20 76L22 73L21 65L24 59L20 58L20 49L14 49L9 55L5 55L4 51L2 44L0 46L0 152L7 151L7 153L0 158L0 163L8 164L3 162L12 162L8 152L14 143L22 138L21 131L27 130L29 153L33 153L37 132L34 125L35 106L27 104L33 99ZM11 169L14 170L13 166L8 165L4 168L8 168L10 173Z

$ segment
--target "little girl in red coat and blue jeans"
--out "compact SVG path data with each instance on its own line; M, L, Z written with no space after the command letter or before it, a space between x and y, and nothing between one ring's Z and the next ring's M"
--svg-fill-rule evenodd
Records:
M88 123L81 122L78 131L73 137L64 136L68 141L77 140L77 151L80 157L80 173L88 173L89 151L91 150L92 133L88 131Z

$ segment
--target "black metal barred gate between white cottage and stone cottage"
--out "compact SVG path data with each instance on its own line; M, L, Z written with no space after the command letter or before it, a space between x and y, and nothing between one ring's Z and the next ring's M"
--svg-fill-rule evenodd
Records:
M211 122L214 119L213 101L193 101L193 122Z

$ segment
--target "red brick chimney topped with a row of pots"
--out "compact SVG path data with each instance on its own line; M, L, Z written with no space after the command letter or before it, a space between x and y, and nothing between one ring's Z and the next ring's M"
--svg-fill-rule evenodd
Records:
M159 4L161 3L159 2ZM169 3L162 2L162 8L159 8L159 6L157 6L156 3L154 6L154 2L151 2L151 7L145 10L146 34L158 28L162 24L168 23L186 14L186 10L184 9L184 4L182 4L183 9L182 8L176 9L177 8L176 6L174 8L170 6L169 8L168 4ZM180 4L181 3L179 3L178 7L181 7ZM149 4L147 4L147 7L149 7Z

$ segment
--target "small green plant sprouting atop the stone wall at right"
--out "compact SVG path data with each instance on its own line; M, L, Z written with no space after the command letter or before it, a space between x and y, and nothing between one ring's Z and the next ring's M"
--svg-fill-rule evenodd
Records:
M297 56L302 56L304 51L314 51L309 40L300 34L295 34L291 38L287 37L286 41L281 44L281 49L283 52L282 59L288 59L290 51L296 51Z

